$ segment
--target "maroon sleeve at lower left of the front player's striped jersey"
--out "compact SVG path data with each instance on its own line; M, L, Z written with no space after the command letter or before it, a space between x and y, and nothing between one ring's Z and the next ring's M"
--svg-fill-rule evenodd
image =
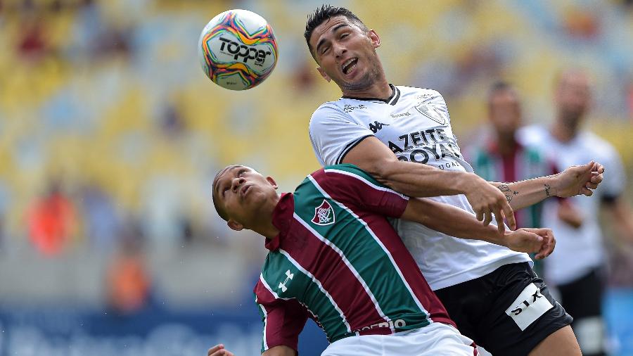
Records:
M298 352L299 334L307 322L308 314L296 299L281 299L262 283L255 286L255 303L264 323L262 352L285 345Z

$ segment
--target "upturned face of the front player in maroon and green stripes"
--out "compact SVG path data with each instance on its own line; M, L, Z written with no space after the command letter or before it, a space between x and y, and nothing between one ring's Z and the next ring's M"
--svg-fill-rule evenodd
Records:
M267 202L274 201L277 185L271 177L243 165L229 166L218 174L213 195L229 227L241 230L257 220Z

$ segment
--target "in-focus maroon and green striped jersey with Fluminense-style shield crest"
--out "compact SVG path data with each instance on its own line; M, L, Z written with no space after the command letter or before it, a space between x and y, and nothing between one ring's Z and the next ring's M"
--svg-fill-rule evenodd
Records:
M262 352L297 349L307 318L329 342L391 334L432 322L453 324L387 217L408 198L354 165L310 174L276 206L280 231L255 286L264 333Z

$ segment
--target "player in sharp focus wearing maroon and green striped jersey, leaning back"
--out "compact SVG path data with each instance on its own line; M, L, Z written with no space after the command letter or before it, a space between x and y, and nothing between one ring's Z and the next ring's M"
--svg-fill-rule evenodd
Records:
M269 253L254 290L266 356L295 355L308 318L331 343L322 355L476 355L387 217L539 258L554 248L549 229L501 233L459 208L403 196L354 165L318 170L294 193L276 189L272 177L241 165L224 168L212 186L215 208L231 229L266 238ZM231 353L216 345L208 355Z

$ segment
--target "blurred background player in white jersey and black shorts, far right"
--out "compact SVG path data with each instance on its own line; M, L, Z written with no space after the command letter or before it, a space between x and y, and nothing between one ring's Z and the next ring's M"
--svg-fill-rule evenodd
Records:
M581 129L591 101L587 74L562 72L554 99L553 125L525 127L518 138L542 148L558 167L591 158L600 160L608 174L595 198L573 197L545 205L543 223L554 229L558 239L557 252L544 264L545 277L557 287L561 303L574 317L572 327L583 355L605 355L601 318L605 251L598 211L605 209L615 232L629 241L633 241L633 213L622 198L626 178L618 153L608 142Z

